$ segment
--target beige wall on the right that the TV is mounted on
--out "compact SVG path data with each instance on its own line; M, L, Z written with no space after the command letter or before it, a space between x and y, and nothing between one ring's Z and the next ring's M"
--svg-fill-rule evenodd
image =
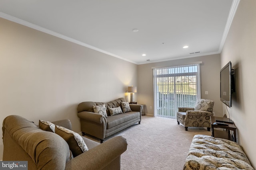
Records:
M228 61L235 69L236 93L230 117L238 129L238 141L256 168L254 111L256 96L256 1L241 0L221 53L221 66ZM223 106L224 113L226 107ZM228 114L228 113L227 113Z

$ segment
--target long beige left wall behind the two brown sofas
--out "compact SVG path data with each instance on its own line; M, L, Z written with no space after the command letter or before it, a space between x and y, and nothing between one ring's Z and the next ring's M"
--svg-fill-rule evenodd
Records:
M36 124L70 119L80 132L77 105L125 97L137 72L136 64L0 18L1 123L13 114ZM0 160L2 151L0 140Z

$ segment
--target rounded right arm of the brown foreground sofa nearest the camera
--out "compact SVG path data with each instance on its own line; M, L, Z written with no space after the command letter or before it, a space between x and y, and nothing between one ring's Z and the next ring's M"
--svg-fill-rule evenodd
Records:
M111 170L120 170L121 154L127 149L127 141L122 136L108 141L76 156L66 163L66 170L101 170L108 166ZM111 164L113 162L113 164Z

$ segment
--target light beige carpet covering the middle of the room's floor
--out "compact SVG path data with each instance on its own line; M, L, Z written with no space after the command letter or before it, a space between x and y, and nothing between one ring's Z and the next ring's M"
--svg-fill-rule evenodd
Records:
M176 119L142 116L136 123L108 138L123 136L127 150L121 156L121 170L182 170L192 138L211 135L203 127L178 125Z

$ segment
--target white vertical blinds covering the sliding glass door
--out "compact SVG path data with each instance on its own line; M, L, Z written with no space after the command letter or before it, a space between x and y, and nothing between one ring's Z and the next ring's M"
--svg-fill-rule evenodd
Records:
M176 119L178 107L194 107L200 93L200 63L153 68L154 116Z

